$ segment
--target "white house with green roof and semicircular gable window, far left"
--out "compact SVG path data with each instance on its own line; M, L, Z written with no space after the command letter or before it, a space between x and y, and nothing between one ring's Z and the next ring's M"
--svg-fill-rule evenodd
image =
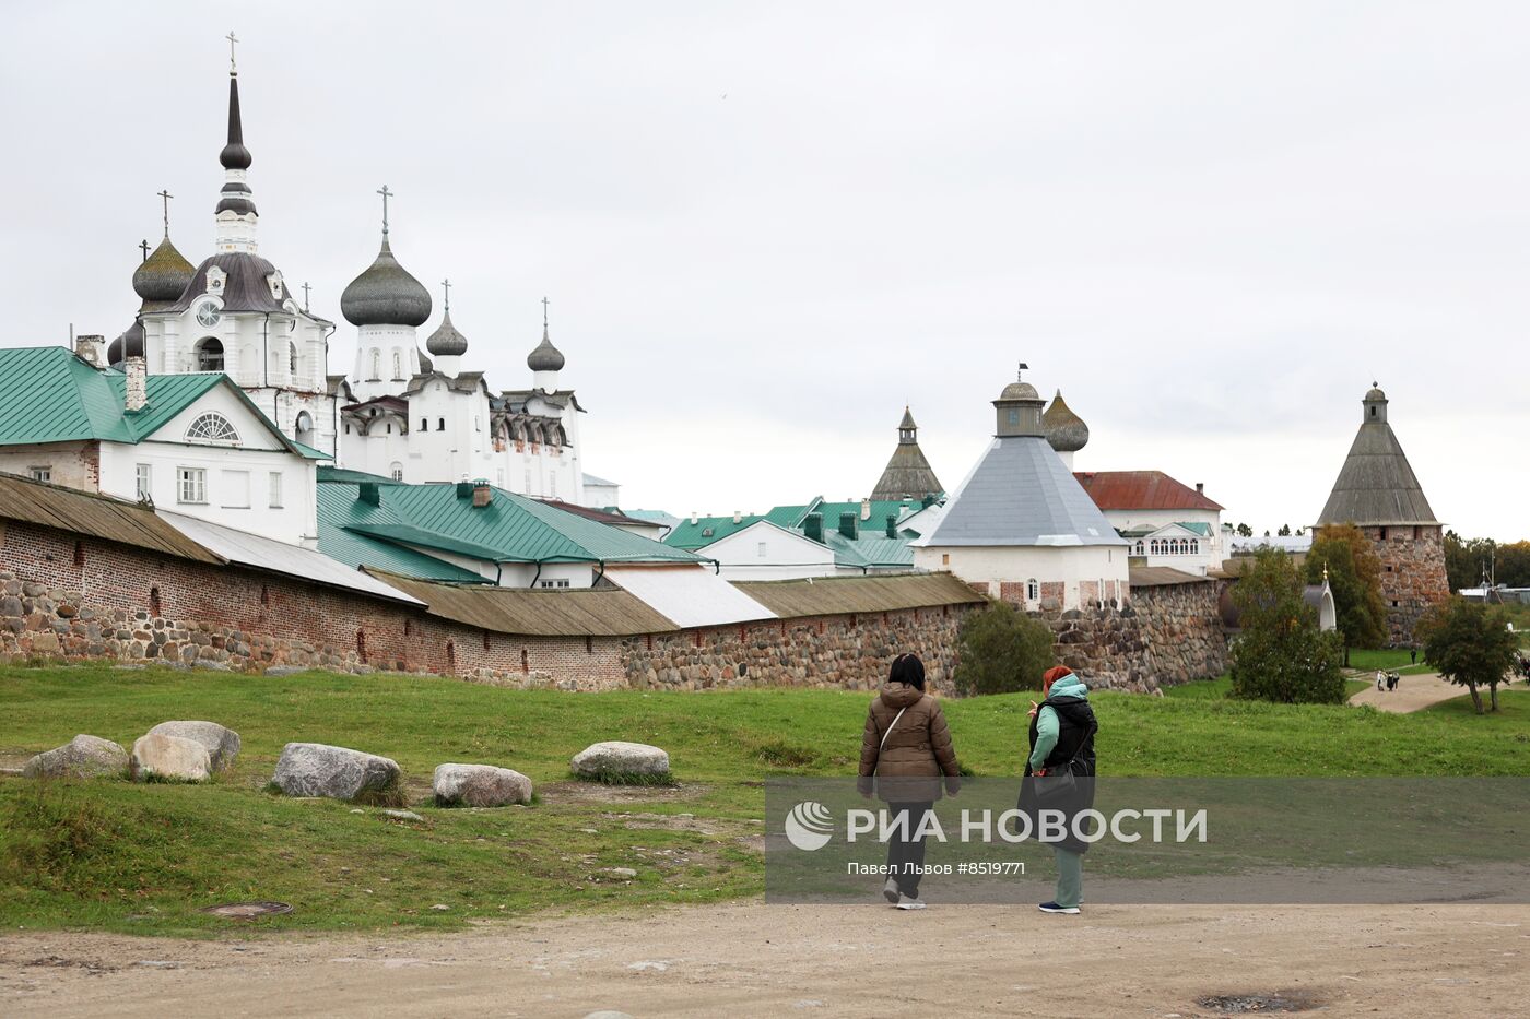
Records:
M0 350L0 471L314 548L315 462L222 373L104 366L99 338Z

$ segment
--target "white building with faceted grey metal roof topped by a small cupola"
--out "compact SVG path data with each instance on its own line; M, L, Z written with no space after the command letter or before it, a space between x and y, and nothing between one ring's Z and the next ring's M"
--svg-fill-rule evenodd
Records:
M993 405L993 444L912 542L915 566L947 569L1024 609L1123 604L1126 540L1047 442L1045 401L1016 381Z

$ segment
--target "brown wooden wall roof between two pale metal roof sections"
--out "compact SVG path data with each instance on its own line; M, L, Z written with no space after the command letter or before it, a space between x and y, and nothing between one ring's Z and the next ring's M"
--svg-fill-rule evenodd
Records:
M425 603L430 615L525 636L635 636L679 629L638 597L615 588L543 591L441 584L381 569L378 580Z

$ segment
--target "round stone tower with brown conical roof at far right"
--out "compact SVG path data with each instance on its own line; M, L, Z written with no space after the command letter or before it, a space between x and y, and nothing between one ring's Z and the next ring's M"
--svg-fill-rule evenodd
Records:
M1382 560L1388 638L1411 644L1424 609L1450 594L1444 575L1444 525L1435 520L1401 444L1386 422L1386 393L1372 383L1363 416L1313 539L1325 525L1353 523Z

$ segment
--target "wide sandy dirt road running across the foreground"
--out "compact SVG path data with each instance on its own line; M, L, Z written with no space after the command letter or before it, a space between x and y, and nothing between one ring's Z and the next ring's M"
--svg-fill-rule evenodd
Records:
M448 936L0 938L21 1016L1530 1016L1530 906L741 903Z

